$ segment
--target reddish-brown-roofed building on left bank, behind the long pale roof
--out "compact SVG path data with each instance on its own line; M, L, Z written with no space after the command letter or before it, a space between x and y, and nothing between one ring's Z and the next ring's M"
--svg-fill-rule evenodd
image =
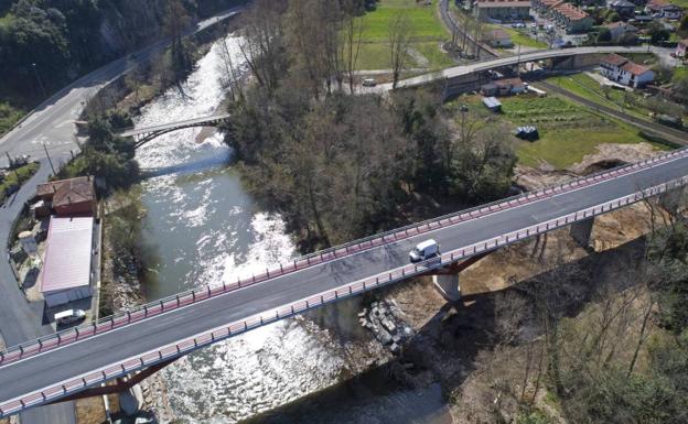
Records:
M40 184L36 195L50 204L57 216L95 215L96 191L94 178L80 176Z

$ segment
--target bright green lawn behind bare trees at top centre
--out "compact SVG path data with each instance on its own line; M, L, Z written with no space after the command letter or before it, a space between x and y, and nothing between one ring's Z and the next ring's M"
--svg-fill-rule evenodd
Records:
M367 12L364 17L363 45L358 56L358 69L388 69L389 23L396 13L408 14L412 24L411 48L424 56L428 61L416 61L412 55L407 61L407 67L429 67L439 69L453 65L453 62L440 51L439 45L448 40L450 34L444 29L437 14L438 0L432 6L417 3L416 0L380 0L377 9Z

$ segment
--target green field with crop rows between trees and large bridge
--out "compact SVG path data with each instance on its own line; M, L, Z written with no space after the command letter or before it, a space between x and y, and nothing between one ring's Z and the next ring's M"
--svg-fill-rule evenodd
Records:
M477 113L487 113L479 97L463 101ZM520 95L499 98L499 101L502 113L497 117L501 120L514 129L531 124L540 133L540 139L535 142L517 142L516 154L522 165L538 166L546 162L557 170L563 170L580 162L587 154L595 153L600 144L645 141L636 129L558 97Z

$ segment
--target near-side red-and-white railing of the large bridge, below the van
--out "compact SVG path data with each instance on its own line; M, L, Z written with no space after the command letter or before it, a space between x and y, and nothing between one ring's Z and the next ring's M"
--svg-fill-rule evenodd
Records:
M71 393L78 392L87 387L103 383L105 381L141 370L143 368L160 363L162 361L184 356L193 350L200 349L216 341L237 336L250 329L275 323L279 319L291 317L295 314L320 307L327 303L336 302L366 291L378 289L390 283L421 275L434 269L455 263L471 256L513 244L535 235L552 231L569 226L573 222L619 209L623 206L639 202L644 198L656 196L673 188L685 186L686 184L688 184L688 176L676 178L667 183L641 189L627 196L605 202L598 206L563 215L559 218L551 219L539 225L525 227L519 230L498 236L496 238L487 239L474 244L470 244L467 247L442 253L439 258L430 259L428 261L416 264L411 263L399 267L397 269L378 273L376 275L372 275L356 282L343 284L334 290L329 290L314 294L312 296L297 301L292 304L287 304L261 314L256 314L246 319L239 319L228 325L208 329L207 331L203 331L179 343L174 343L162 348L125 359L119 363L109 365L101 369L94 370L82 376L77 376L73 379L58 382L53 387L43 388L42 390L26 394L21 399L11 400L9 402L0 404L0 417L18 413L26 407L47 403Z

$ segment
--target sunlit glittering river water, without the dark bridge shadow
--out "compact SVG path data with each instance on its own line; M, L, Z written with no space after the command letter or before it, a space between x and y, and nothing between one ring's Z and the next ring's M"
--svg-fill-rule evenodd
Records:
M236 53L236 37L227 39ZM216 43L184 85L143 108L137 126L213 113L224 96ZM237 55L238 61L238 55ZM262 273L294 256L277 215L256 213L240 178L208 166L230 152L222 135L195 142L198 129L176 131L141 148L144 168L164 170L142 183L147 242L160 264L148 287L151 301ZM346 368L329 333L287 319L202 349L165 369L173 412L184 423L232 423L331 385Z

